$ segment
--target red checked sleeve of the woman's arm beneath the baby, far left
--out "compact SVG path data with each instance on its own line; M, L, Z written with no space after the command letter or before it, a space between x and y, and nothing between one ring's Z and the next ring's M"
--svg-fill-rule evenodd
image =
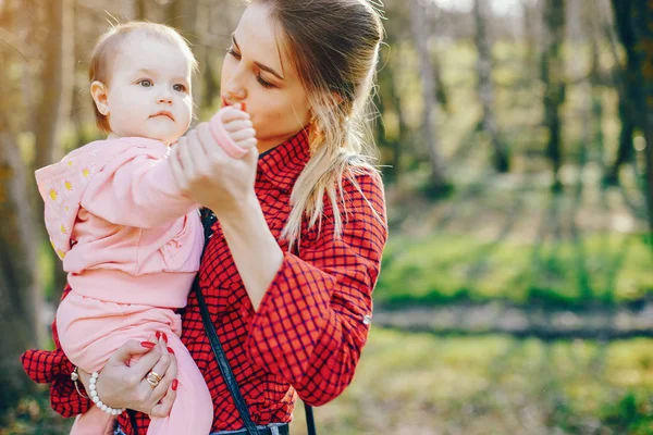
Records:
M66 286L63 297L69 291L70 287ZM29 349L21 356L23 370L34 382L50 383L50 406L57 413L66 418L75 417L88 411L93 402L79 396L71 381L71 373L75 366L61 350L57 320L52 322L52 339L54 350Z

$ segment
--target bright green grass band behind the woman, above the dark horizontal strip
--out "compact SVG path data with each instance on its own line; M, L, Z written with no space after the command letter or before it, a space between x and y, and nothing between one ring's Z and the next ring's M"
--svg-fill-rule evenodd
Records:
M578 240L486 241L467 234L391 237L374 300L386 307L506 300L581 307L653 294L644 237L594 234Z

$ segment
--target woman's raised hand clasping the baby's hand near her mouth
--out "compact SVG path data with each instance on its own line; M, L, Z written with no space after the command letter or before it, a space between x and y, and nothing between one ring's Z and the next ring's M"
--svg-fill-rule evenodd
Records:
M223 116L225 129L237 139L236 129L243 130L243 138L250 129L247 120L230 122L227 114ZM234 136L236 135L236 136ZM173 147L170 164L177 185L194 201L210 208L218 217L237 210L239 204L256 200L254 183L258 151L256 139L247 138L238 144L250 147L242 159L233 159L226 154L215 141L207 123L201 123Z

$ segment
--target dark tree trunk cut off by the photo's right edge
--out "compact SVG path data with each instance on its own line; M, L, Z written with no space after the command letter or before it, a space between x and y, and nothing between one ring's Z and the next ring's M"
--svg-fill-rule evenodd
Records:
M634 99L638 124L642 126L646 147L646 204L649 207L649 228L653 232L653 4L650 0L631 2L631 23L636 37L634 54L638 62L636 76L637 98Z

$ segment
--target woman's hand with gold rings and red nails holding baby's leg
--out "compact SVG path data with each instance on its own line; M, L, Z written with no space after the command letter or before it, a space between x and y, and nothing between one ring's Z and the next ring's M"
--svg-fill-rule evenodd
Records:
M135 356L141 357L127 365ZM162 377L156 388L146 380L150 371ZM84 388L90 391L90 374L83 370L78 370L78 373ZM162 418L170 413L176 397L176 358L168 350L163 339L156 344L130 340L107 361L98 377L96 390L102 402L111 408L128 408Z

